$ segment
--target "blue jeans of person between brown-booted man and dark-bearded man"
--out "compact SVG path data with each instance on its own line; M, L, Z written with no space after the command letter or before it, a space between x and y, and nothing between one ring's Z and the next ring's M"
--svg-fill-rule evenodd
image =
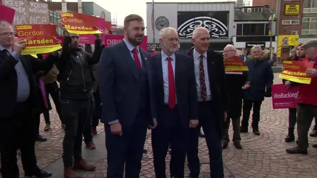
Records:
M93 134L91 133L92 128L93 128L93 114L95 111L95 97L94 97L94 93L91 92L90 93L90 109L89 109L89 115L88 115L88 119L85 125L85 129L83 132L83 136L84 136L84 141L85 143L89 143L91 141L93 141Z

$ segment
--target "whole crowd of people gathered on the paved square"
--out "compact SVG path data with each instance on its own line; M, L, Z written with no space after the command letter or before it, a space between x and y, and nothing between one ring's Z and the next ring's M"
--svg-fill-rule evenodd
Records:
M96 166L82 158L81 145L94 149L92 134L97 134L100 121L105 125L107 178L138 178L147 130L152 130L155 175L166 178L165 157L171 154L172 178L184 177L187 155L191 178L200 175L199 136L204 131L210 157L211 178L223 178L222 149L229 145L232 121L233 145L242 149L240 133L260 135L260 109L264 97L271 97L273 71L262 47L251 49L246 59L249 71L225 71L223 60L237 56L233 45L223 54L209 50L210 33L204 27L193 32L194 47L188 54L178 53L177 30L164 28L159 34L162 50L150 56L139 47L144 40L144 20L131 14L124 19L124 40L104 47L96 34L94 51L91 45L79 45L79 35L64 32L60 51L45 59L38 54L21 55L23 39L14 42L14 31L0 21L0 156L2 178L19 178L17 150L27 177L51 177L37 166L35 141L45 141L39 134L43 113L50 130L52 96L64 128L63 167L65 178L80 178L77 169L94 171ZM306 54L306 56L305 56ZM317 42L297 47L291 60L314 62L306 71L312 76L310 85L283 80L286 88L300 87L297 109L289 109L289 133L286 142L298 139L288 153L307 154L308 132L317 117ZM59 85L57 84L59 83ZM41 97L44 83L47 98ZM45 103L48 103L46 106ZM240 117L242 121L240 122ZM316 129L312 136L316 136ZM316 147L316 145L313 145ZM169 150L170 149L170 150Z

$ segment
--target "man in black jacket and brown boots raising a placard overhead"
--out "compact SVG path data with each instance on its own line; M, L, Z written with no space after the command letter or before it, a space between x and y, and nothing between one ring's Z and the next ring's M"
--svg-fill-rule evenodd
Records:
M101 37L96 36L95 51L90 54L79 49L79 35L69 33L62 20L58 26L64 31L64 42L56 67L59 71L61 111L64 117L63 163L65 178L78 178L74 169L94 171L81 154L83 131L89 121L90 93L93 86L92 65L101 56Z

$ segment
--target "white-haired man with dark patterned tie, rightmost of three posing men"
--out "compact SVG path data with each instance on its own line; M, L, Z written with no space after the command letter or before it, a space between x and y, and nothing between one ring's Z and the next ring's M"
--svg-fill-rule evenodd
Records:
M192 43L195 47L189 55L193 58L195 70L199 125L190 129L187 152L190 177L198 178L200 174L198 137L203 127L209 149L211 178L223 178L221 137L229 104L223 55L208 50L210 34L204 27L195 29Z

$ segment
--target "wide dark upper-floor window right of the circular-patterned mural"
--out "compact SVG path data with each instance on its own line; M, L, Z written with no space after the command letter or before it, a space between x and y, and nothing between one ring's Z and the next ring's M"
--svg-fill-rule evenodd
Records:
M268 24L237 24L237 36L268 35Z

